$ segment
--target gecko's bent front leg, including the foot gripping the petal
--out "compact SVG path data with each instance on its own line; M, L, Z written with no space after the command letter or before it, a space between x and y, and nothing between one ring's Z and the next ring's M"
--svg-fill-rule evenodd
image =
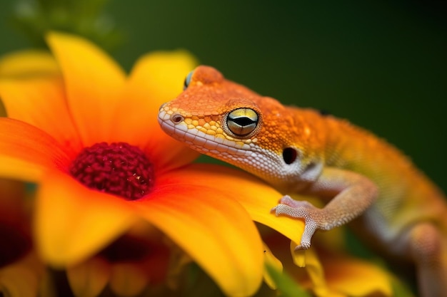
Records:
M361 215L376 200L376 184L361 174L348 170L326 167L311 184L306 194L314 194L328 203L322 209L306 201L296 201L284 196L272 212L279 216L304 219L304 231L296 249L308 249L316 230L330 230Z

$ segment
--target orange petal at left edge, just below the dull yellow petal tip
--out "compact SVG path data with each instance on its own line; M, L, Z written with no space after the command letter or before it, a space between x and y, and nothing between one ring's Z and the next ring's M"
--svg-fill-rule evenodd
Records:
M66 105L60 76L0 80L0 96L9 118L44 130L71 154L79 152L81 143Z

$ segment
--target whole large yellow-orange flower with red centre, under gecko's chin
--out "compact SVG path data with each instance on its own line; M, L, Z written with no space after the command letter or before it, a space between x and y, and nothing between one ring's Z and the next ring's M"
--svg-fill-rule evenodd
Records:
M127 76L99 48L62 33L49 53L0 61L0 174L39 184L34 237L52 266L81 265L144 220L196 261L228 296L261 284L253 220L298 241L302 222L269 210L281 194L197 155L161 131L161 103L181 92L189 54L151 53ZM76 273L75 273L76 274Z

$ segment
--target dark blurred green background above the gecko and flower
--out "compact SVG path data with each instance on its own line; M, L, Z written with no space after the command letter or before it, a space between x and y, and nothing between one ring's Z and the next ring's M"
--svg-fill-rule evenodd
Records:
M0 54L28 48L0 0ZM283 103L327 110L410 155L447 192L445 1L111 0L111 54L186 48ZM185 73L186 74L186 73ZM183 83L182 81L179 82Z

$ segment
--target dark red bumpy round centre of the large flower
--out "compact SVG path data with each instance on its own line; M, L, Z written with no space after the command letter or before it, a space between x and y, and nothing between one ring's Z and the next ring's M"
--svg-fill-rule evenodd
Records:
M143 197L154 184L154 168L146 155L125 142L96 143L74 160L70 173L91 189L128 200Z

